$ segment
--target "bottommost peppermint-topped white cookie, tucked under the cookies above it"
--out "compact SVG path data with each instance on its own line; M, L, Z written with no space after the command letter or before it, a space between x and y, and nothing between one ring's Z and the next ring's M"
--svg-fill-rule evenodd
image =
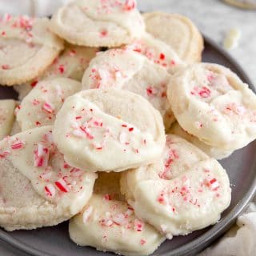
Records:
M90 202L70 220L70 238L79 246L116 254L152 254L165 238L119 198L119 178L118 173L99 174Z

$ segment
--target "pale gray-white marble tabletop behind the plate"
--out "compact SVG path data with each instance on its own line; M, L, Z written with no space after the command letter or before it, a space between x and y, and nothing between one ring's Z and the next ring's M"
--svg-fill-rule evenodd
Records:
M142 11L163 10L189 17L203 34L222 45L231 28L241 30L242 38L230 54L238 61L256 86L256 11L240 10L219 0L138 0ZM0 242L0 255L26 256Z

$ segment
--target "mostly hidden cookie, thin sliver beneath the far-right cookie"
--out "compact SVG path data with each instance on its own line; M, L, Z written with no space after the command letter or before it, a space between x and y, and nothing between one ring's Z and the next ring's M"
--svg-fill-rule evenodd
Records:
M205 143L201 142L197 137L194 137L193 135L186 132L186 130L183 130L178 122L175 122L170 127L170 130L168 132L170 134L175 134L182 138L185 138L188 142L194 144L194 146L197 146L200 150L208 154L211 158L221 160L223 158L228 158L230 154L233 153L232 150L222 150L221 148L218 148L216 146L206 145Z

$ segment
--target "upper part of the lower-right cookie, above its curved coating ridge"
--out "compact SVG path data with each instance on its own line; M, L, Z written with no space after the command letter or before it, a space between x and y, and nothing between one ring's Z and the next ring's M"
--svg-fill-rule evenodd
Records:
M128 202L134 201L134 188L144 180L170 180L185 173L190 166L209 158L196 146L173 134L166 135L166 146L158 162L150 166L141 166L122 173L121 192Z

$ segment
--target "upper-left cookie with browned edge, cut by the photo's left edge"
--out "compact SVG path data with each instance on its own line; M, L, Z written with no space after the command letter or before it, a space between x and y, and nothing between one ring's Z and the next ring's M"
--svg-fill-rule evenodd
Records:
M6 15L0 22L0 85L13 86L38 77L63 49L49 30L48 18Z

